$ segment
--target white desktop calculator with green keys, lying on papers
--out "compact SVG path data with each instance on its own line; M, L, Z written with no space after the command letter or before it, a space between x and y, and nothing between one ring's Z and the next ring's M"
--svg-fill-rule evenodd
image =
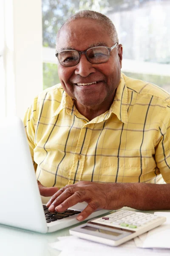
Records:
M74 227L70 229L70 234L102 244L117 246L158 227L165 221L166 217L151 213L119 210Z

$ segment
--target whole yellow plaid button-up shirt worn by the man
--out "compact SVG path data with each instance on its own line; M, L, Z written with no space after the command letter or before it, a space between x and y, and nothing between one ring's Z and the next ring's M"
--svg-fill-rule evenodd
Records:
M34 99L24 124L45 186L170 183L170 95L153 84L122 73L110 110L90 122L58 84Z

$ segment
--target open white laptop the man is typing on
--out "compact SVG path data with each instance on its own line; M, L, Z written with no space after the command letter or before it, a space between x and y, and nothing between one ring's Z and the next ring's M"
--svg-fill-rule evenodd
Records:
M87 204L74 205L62 214L42 204L26 132L20 118L0 122L0 224L40 233L80 223L76 217ZM99 209L86 220L110 210Z

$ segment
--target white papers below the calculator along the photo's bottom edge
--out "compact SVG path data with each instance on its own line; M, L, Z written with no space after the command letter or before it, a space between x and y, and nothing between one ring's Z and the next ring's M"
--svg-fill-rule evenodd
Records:
M118 247L111 247L105 244L80 239L76 236L59 237L58 239L58 242L51 243L50 246L62 251L59 256L113 256L115 253L116 256L153 256L152 249L136 248L133 240L127 241ZM170 253L169 251L164 251L163 255L170 255ZM154 256L162 256L162 250L156 250Z

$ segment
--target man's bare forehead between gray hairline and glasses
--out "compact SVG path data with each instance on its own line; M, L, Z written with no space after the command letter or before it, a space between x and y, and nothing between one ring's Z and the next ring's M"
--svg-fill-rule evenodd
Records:
M102 41L101 41L102 39ZM77 19L65 24L57 35L57 51L64 49L85 49L96 46L109 46L111 38L105 25L96 20Z

